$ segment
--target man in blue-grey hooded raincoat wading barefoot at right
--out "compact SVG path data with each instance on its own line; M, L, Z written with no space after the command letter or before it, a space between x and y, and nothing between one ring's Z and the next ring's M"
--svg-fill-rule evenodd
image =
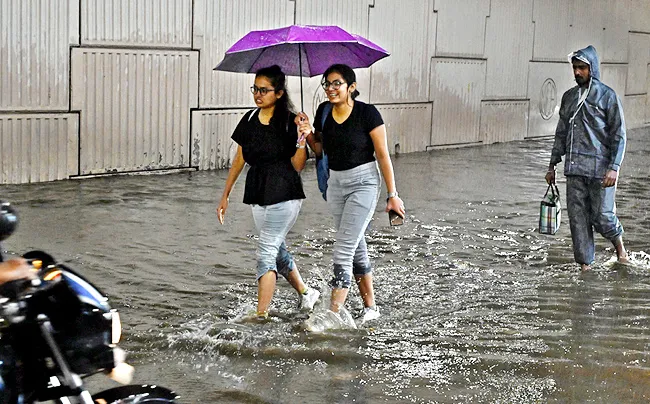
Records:
M625 154L625 119L614 90L600 82L596 49L590 45L573 52L569 61L578 85L562 96L546 182L555 183L555 165L565 156L573 255L586 271L594 262L594 229L612 242L619 262L628 260L615 204Z

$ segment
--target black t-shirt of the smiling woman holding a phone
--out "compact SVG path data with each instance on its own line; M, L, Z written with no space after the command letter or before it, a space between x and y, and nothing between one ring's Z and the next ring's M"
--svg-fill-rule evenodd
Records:
M334 171L349 170L375 161L375 146L370 131L384 124L381 114L372 104L354 101L352 112L343 123L337 123L332 110L321 127L326 101L318 106L314 128L323 135L323 149L327 153L329 167Z

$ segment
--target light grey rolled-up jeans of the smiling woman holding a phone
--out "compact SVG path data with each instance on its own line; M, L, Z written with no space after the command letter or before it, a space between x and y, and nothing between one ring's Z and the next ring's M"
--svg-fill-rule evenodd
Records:
M349 288L352 274L365 275L372 271L365 231L377 206L380 181L374 161L349 170L330 170L327 205L336 228L334 288Z

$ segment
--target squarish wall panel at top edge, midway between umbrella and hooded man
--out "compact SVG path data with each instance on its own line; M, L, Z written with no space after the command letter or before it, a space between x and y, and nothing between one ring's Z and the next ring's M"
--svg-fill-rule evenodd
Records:
M490 0L436 0L436 56L482 58Z

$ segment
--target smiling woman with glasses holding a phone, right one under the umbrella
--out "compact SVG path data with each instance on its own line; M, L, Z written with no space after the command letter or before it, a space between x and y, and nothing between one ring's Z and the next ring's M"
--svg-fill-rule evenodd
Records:
M329 159L327 205L336 227L330 311L339 316L354 275L363 299L359 320L363 324L379 317L364 233L377 205L380 171L388 191L386 212L394 210L402 217L406 212L397 195L386 126L375 106L356 100L354 70L347 65L330 66L321 84L329 105L324 102L318 107L315 133L304 113L298 114L296 123L316 155L324 151Z

